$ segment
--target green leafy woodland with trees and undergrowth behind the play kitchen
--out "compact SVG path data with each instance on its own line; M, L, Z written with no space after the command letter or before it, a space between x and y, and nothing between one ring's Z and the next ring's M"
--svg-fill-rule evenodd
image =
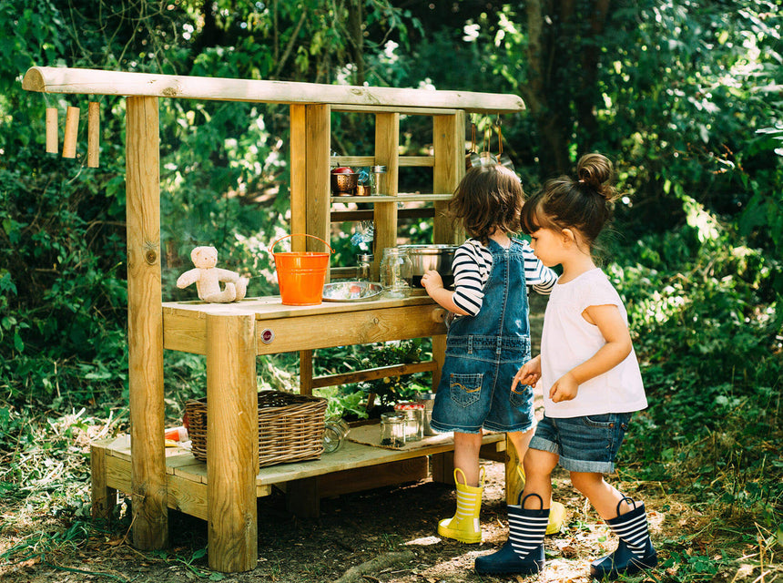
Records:
M60 523L0 547L89 536L77 435L127 428L124 100L100 97L100 168L44 149L45 108L86 96L28 93L28 67L514 93L519 116L473 118L479 149L514 159L524 188L572 172L588 151L615 162L624 193L603 241L629 309L650 408L622 453L628 476L697 500L720 560L677 557L678 580L783 552L783 17L780 0L4 0L0 3L0 533L20 508ZM164 299L196 244L276 292L263 250L289 232L288 108L160 101ZM403 120L406 154L432 129ZM61 134L62 135L62 134ZM339 153L371 152L372 128L333 123ZM490 137L488 143L486 138ZM466 140L470 131L466 128ZM412 171L408 190L427 189ZM351 265L357 226L337 225ZM406 226L427 241L426 222ZM426 342L320 351L325 372L426 356ZM168 415L204 393L203 360L167 353ZM259 359L259 385L290 387L296 358ZM361 416L425 376L331 391ZM76 460L76 462L74 461ZM24 513L23 513L24 514ZM70 534L69 534L70 533ZM58 538L59 537L59 538ZM688 533L672 542L689 544ZM755 549L751 553L748 549ZM767 558L764 559L764 553ZM681 559L681 560L680 560ZM669 560L672 560L671 558ZM757 572L758 574L758 572Z

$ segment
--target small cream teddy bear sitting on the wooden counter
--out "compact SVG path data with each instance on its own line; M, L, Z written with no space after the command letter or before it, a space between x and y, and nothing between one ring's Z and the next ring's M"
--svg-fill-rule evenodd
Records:
M190 259L196 266L190 271L185 271L177 280L177 287L187 288L196 284L198 298L210 303L239 302L248 291L248 278L239 277L235 271L221 270L218 264L218 250L214 247L196 247L190 251ZM220 290L220 281L225 282L224 289Z

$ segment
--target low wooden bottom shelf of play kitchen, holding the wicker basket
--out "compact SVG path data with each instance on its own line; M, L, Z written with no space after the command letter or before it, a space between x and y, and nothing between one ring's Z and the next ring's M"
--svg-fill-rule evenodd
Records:
M393 484L402 484L427 476L428 455L453 452L453 439L442 436L425 438L420 447L392 450L346 442L339 451L320 459L295 464L269 465L256 476L256 496L269 496L275 486L294 494L290 510L300 516L317 516L319 500L351 492ZM483 456L503 459L505 435L483 436ZM91 446L93 504L105 506L106 493L131 492L130 436L119 435ZM166 448L168 507L208 520L207 464L199 462L188 449ZM94 512L98 509L94 507Z

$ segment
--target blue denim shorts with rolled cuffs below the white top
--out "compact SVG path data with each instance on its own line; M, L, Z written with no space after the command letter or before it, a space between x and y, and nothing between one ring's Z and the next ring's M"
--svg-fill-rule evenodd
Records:
M559 455L558 463L569 472L611 474L632 415L608 413L566 418L544 415L535 428L530 448Z

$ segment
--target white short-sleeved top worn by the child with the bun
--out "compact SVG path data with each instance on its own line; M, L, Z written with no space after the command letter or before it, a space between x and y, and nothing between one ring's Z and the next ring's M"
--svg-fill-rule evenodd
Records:
M575 366L584 363L606 343L598 326L582 312L588 306L615 305L625 322L625 306L604 271L585 271L572 281L558 282L544 312L541 337L541 386L547 417L580 417L605 413L630 413L647 406L642 374L633 348L622 363L579 385L575 399L554 403L549 389Z

